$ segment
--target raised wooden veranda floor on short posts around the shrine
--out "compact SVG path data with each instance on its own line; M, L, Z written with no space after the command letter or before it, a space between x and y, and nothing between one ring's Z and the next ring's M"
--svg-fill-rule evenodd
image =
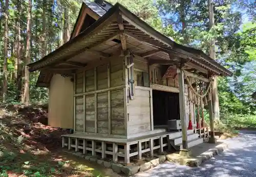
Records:
M193 134L193 130L188 130L187 133ZM137 156L137 159L142 159L142 154L146 152L153 157L154 151L170 150L172 145L170 141L181 136L181 131L165 131L132 139L103 138L74 133L62 135L62 147L75 148L75 151L90 153L92 156L101 153L101 158L109 154L115 162L119 158L124 158L124 163L130 163L132 157Z

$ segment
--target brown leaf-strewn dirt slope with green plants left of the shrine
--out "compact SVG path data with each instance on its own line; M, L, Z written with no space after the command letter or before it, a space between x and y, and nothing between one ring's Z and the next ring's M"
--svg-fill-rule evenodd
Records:
M69 130L47 125L47 105L2 106L0 122L0 176L119 176L63 152Z

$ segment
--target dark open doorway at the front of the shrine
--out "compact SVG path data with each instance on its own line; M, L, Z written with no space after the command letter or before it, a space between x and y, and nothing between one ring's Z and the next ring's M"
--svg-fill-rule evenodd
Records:
M153 90L154 126L167 125L168 120L180 119L179 94Z

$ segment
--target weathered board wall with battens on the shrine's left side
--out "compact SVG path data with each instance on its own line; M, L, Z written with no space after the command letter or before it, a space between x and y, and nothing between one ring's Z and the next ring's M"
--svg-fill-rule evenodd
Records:
M122 61L121 57L113 57L109 63L76 73L74 110L79 108L79 114L74 114L75 131L126 135ZM84 101L78 104L76 100Z

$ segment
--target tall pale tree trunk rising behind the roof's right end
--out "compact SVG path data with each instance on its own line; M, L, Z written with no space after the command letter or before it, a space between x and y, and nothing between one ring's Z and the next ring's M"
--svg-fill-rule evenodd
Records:
M209 6L209 29L214 27L214 5L211 0L208 0ZM210 42L209 55L212 59L216 60L216 52L215 52L215 39L213 38ZM217 89L217 77L214 79L214 83L212 84L212 107L214 112L214 120L220 119L220 108L219 108L219 97L218 97L218 89Z

